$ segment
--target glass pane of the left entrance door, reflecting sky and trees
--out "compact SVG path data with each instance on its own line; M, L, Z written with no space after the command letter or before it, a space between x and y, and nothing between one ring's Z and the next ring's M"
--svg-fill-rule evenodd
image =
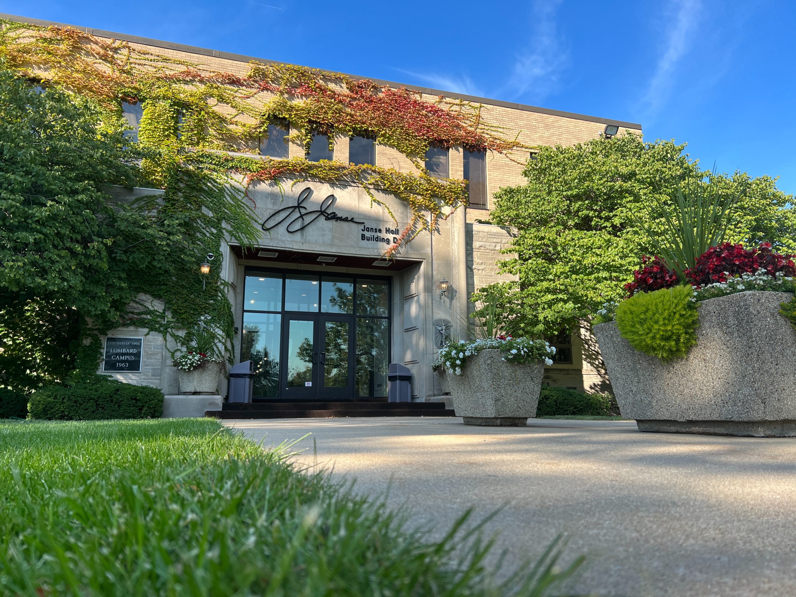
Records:
M284 395L289 398L312 398L318 396L314 387L315 363L315 322L307 319L287 319L287 338L285 339Z

